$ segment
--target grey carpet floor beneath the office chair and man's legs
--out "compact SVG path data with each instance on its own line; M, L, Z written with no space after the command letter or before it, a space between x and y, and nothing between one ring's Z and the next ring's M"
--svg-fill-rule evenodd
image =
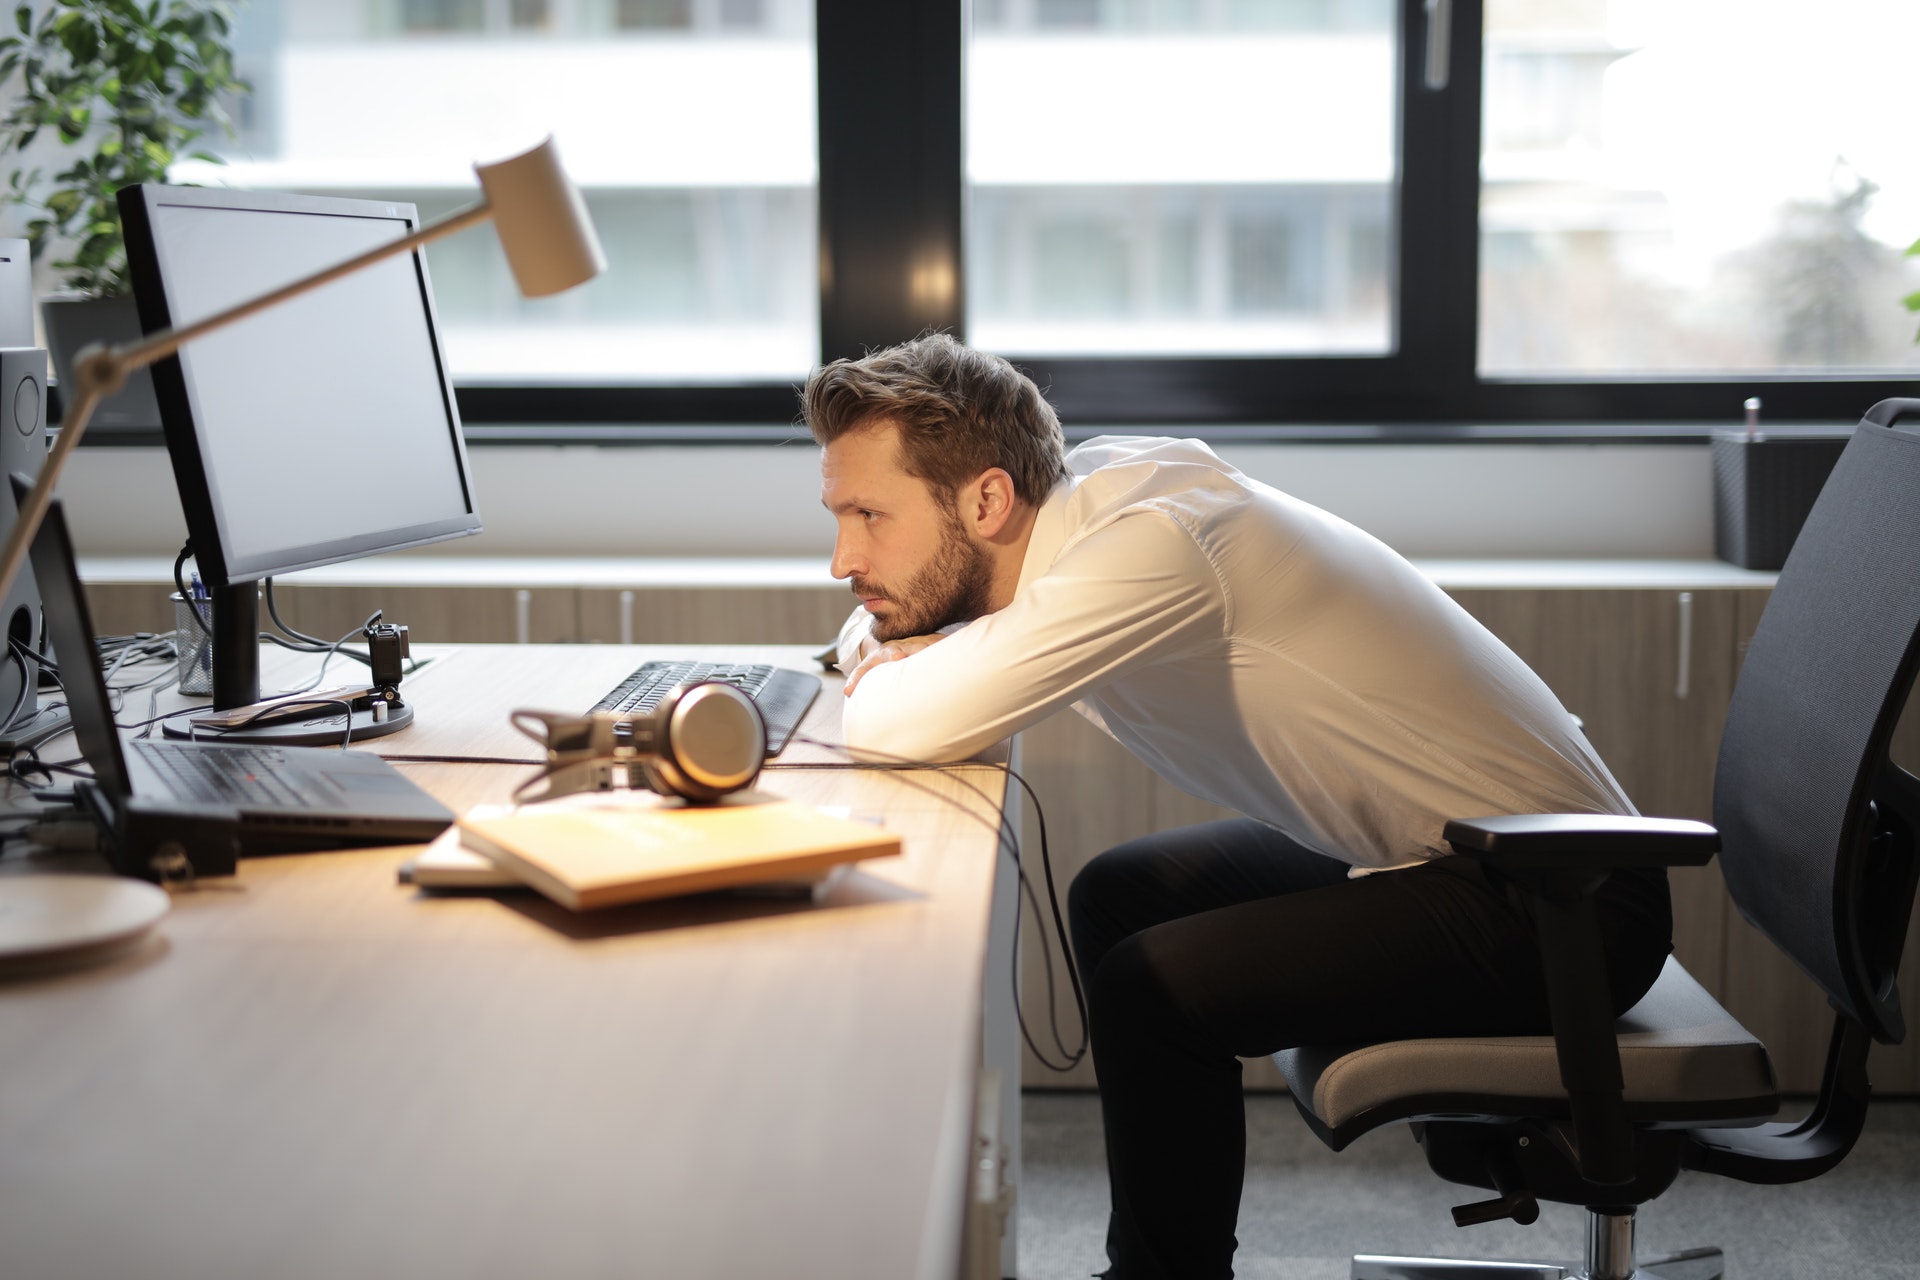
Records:
M1092 1094L1060 1092L1029 1092L1023 1105L1020 1278L1079 1280L1106 1265L1100 1105ZM1432 1176L1404 1125L1332 1153L1284 1096L1250 1096L1235 1274L1346 1280L1356 1251L1580 1257L1586 1215L1565 1205L1542 1205L1532 1226L1455 1230L1448 1209L1482 1196ZM1847 1161L1812 1182L1745 1186L1680 1174L1642 1211L1638 1230L1647 1257L1720 1245L1730 1280L1920 1276L1920 1102L1876 1102Z

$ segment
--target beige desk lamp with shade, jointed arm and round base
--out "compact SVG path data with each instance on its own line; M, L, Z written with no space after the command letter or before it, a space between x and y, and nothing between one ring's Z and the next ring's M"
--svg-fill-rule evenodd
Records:
M161 361L188 342L349 276L388 257L409 253L493 219L515 284L526 297L547 297L586 284L607 269L599 238L580 192L561 169L549 136L540 146L492 165L474 165L484 200L411 236L317 271L252 301L204 320L148 334L127 345L90 345L73 363L73 401L33 491L19 505L13 530L0 549L0 597L19 576L67 455L79 443L102 399L127 376ZM0 480L4 484L4 480ZM109 960L136 944L167 912L167 894L152 885L115 877L6 875L0 877L0 973L19 965L65 965Z

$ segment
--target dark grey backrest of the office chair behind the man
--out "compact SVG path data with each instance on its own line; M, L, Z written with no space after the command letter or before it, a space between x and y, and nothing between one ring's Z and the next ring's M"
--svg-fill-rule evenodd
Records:
M1920 785L1887 760L1920 658L1920 399L1874 405L1753 633L1713 785L1726 887L1874 1038L1914 894Z

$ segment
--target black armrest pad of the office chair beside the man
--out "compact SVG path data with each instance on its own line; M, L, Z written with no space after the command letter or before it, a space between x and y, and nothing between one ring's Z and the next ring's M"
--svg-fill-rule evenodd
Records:
M1457 818L1444 837L1453 852L1507 873L1699 867L1720 850L1720 833L1703 821L1617 814Z

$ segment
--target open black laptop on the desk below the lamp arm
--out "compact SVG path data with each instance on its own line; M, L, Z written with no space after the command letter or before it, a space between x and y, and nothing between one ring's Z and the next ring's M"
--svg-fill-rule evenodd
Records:
M13 476L15 501L27 493ZM94 647L94 626L81 589L73 541L58 499L33 539L33 574L40 585L46 635L54 643L73 737L94 777L75 796L119 844L136 812L142 842L156 814L213 814L236 821L238 852L275 854L344 844L419 844L432 841L453 814L371 752L324 747L238 747L217 743L121 743L113 704ZM186 829L186 827L182 827ZM119 862L119 860L115 860Z

